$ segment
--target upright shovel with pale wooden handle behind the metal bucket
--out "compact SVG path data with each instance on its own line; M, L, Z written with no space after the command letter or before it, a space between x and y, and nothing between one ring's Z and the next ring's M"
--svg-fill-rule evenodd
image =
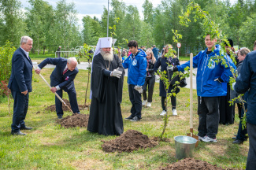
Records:
M195 147L198 146L198 135L193 134L193 54L190 54L190 133L187 133L187 136L195 138L197 142Z

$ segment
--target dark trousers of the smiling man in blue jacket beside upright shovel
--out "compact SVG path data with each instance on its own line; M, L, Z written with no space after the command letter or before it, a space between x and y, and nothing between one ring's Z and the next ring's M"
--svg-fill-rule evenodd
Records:
M220 97L198 96L198 136L207 135L211 139L216 139L220 119L219 101Z

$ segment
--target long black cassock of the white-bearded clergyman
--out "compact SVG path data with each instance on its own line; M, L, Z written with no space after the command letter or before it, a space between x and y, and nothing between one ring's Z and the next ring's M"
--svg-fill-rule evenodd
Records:
M103 71L109 68L123 72L120 79L106 76ZM105 61L102 54L93 58L91 73L91 109L87 130L100 135L121 135L124 132L121 115L121 102L124 82L124 68L117 55L113 61Z

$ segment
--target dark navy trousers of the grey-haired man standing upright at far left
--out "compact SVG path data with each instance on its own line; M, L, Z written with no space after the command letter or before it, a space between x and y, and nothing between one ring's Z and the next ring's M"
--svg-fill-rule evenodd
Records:
M20 127L25 127L25 118L28 112L29 94L21 94L20 91L11 91L14 99L13 104L13 124L12 131L20 131Z

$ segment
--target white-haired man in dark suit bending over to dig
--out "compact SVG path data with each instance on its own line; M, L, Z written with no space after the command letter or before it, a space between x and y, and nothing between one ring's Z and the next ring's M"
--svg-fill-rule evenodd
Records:
M54 71L50 75L50 91L57 93L62 98L62 90L69 94L69 102L73 113L80 113L77 100L74 79L79 72L76 67L77 61L75 57L70 57L68 60L62 57L46 58L42 61L35 72L39 74L41 69L46 65L56 65ZM62 119L63 110L61 101L55 96L55 106L58 119Z

